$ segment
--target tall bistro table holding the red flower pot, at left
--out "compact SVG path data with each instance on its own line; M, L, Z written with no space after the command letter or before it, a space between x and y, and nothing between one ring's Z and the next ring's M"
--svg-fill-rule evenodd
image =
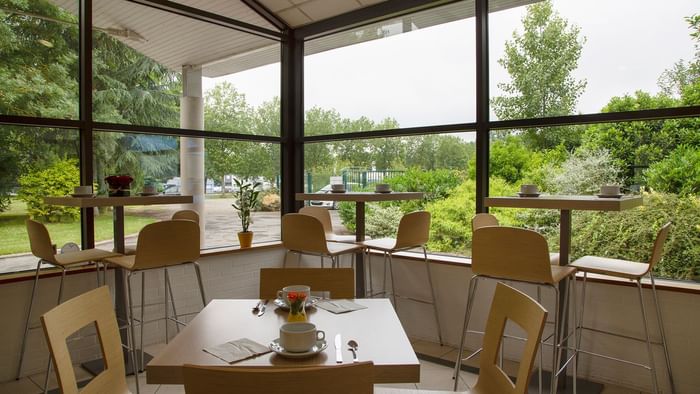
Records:
M127 205L164 205L164 204L191 204L192 196L134 196L134 197L44 197L44 202L51 205L62 205L68 207L78 207L94 214L93 208L113 207L112 220L114 225L114 250L117 253L124 253L124 207ZM124 286L124 272L121 269L114 270L114 295L117 319L128 321L126 315L126 304L124 296L126 287ZM122 343L128 343L127 335L121 331ZM124 360L127 363L127 373L130 373L131 360L125 354ZM102 363L86 363L84 367L95 375L102 371Z

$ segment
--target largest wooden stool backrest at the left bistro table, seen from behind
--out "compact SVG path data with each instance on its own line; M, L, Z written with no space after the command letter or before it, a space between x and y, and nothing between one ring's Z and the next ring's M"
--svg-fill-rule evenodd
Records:
M163 220L139 232L133 269L191 263L199 258L199 223Z

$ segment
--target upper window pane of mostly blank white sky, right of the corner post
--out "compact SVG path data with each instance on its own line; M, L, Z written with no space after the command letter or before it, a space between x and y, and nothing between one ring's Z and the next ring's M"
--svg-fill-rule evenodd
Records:
M305 134L474 121L473 15L458 2L308 41Z

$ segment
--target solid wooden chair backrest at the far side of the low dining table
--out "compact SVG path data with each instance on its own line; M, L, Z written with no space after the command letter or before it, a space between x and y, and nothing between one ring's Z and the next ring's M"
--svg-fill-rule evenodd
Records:
M261 268L260 298L274 299L285 286L306 285L311 291L329 291L331 298L355 298L352 268Z

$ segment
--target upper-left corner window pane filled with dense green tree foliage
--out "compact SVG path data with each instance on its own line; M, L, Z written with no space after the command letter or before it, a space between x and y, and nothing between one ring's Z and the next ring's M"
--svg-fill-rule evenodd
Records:
M77 118L77 17L52 2L13 1L0 19L0 114Z

